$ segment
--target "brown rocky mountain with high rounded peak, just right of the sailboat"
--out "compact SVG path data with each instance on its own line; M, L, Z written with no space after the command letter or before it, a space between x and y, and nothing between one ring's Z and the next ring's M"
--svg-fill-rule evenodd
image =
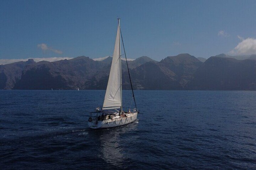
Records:
M160 62L147 62L133 69L132 82L135 89L183 89L201 64L202 62L189 54L166 57ZM129 77L126 75L123 76L125 83L129 84Z

